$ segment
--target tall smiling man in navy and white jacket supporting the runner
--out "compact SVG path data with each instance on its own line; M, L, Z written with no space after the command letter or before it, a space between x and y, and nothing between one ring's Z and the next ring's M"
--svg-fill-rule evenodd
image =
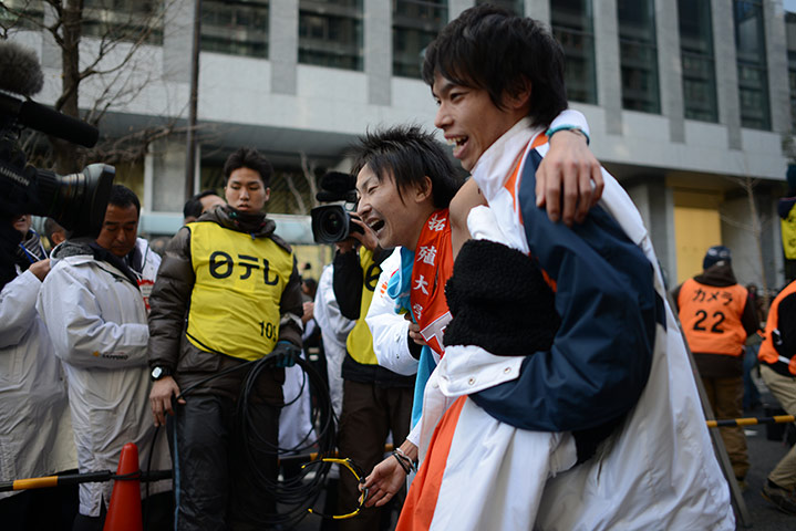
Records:
M423 77L489 207L469 212L446 287L453 319L397 529L733 529L632 201L603 171L582 225L537 208L545 132L566 107L560 46L482 6L430 44ZM393 486L379 468L366 483L376 499Z

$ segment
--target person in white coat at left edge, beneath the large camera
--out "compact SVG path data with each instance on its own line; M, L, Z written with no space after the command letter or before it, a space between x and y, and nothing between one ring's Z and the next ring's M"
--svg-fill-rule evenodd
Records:
M6 223L22 237L4 256L17 277L0 292L0 478L15 480L75 469L77 460L61 363L35 310L50 260L30 215ZM61 529L76 510L76 486L0 493L3 529Z

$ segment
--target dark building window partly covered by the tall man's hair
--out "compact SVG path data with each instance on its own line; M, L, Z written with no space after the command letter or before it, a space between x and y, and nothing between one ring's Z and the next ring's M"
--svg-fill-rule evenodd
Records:
M446 23L446 0L393 0L393 75L420 77L425 48Z

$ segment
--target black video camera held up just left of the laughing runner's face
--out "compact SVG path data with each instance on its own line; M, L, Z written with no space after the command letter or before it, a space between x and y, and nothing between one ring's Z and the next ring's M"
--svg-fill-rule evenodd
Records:
M321 191L316 194L319 201L338 201L310 210L312 238L316 243L335 243L348 239L352 232L363 232L351 221L348 205L356 204L356 178L340 171L329 171L321 177Z

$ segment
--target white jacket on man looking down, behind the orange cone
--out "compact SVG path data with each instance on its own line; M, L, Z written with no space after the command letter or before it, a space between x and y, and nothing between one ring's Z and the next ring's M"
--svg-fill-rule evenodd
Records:
M141 238L137 247L144 257L143 280L154 281L161 257ZM66 372L80 471L115 472L127 442L137 445L141 468L146 470L155 427L148 400L149 332L137 285L92 254L70 256L58 260L44 279L37 309ZM168 468L162 430L152 469ZM81 514L99 516L101 500L110 501L112 488L112 481L82 483ZM151 493L167 489L165 481L149 486Z

